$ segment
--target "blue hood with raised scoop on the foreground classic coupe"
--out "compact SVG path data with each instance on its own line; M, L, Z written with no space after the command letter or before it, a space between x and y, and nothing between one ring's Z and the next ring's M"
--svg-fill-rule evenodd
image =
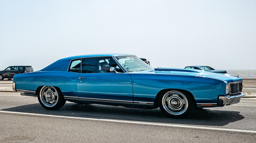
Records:
M235 82L241 81L242 79L230 75L230 74L223 74L223 73L215 73L215 72L208 72L202 70L188 70L188 69L173 69L173 68L157 68L155 70L149 71L138 71L138 72L130 72L130 73L151 73L151 74L172 74L172 75L183 75L183 76L200 76L200 77L207 77L207 78L214 78L222 81L227 82Z

